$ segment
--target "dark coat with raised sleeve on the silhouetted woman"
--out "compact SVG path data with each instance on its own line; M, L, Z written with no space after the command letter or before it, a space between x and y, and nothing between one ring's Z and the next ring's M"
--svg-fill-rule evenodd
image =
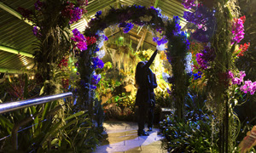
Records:
M135 105L147 106L150 104L150 99L152 99L151 93L154 93L154 88L157 87L156 79L154 78L154 73L149 69L149 66L153 63L157 51L151 56L146 65L143 65L142 75L139 76L142 84L137 90Z

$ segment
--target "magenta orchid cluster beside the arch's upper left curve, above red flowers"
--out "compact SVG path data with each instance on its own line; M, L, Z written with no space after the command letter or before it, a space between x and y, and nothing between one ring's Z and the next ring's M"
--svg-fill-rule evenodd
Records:
M71 37L70 39L75 42L75 48L79 48L81 51L87 49L86 39L84 35L79 32L78 29L73 30L73 37Z

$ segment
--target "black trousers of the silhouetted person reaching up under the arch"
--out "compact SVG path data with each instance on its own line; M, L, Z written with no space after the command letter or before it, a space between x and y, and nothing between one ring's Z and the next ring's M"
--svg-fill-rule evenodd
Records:
M154 107L148 107L148 105L139 105L137 113L138 131L143 131L145 127L145 122L147 121L147 114L148 127L153 127Z

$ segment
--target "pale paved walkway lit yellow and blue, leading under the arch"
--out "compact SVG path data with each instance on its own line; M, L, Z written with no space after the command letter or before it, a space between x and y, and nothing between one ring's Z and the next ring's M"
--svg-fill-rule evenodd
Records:
M103 127L106 127L105 133L108 134L108 139L97 147L96 153L167 152L161 149L160 139L163 137L158 134L157 128L153 128L149 136L137 136L136 122L108 121L103 123Z

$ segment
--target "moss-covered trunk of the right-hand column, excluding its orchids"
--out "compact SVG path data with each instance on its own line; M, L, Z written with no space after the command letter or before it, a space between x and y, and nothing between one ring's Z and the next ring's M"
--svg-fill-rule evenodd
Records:
M214 64L207 73L207 105L210 106L213 113L219 121L219 152L229 152L230 139L229 133L229 85L228 71L231 66L233 49L230 46L232 37L232 27L229 8L225 7L226 1L215 1L217 26L214 36L212 37L212 48L215 51L216 58Z

